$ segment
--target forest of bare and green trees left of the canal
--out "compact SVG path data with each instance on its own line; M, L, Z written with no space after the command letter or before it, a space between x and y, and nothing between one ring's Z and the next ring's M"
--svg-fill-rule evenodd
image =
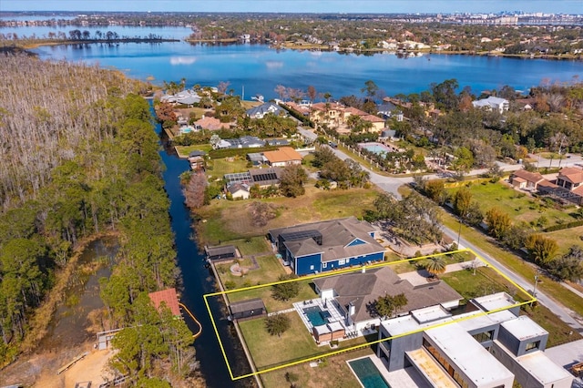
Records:
M123 329L110 367L134 385L196 386L192 334L148 292L179 285L159 138L144 86L97 66L0 57L0 362L34 351L71 254L118 238L100 280L103 330ZM193 377L194 376L194 377Z

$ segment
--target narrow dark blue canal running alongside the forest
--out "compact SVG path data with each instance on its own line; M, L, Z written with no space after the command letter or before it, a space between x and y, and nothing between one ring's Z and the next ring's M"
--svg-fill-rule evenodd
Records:
M204 256L200 253L189 209L184 205L184 195L179 183L179 176L189 169L187 160L177 157L174 148L169 147L169 141L157 125L160 135L162 150L160 156L166 165L163 173L165 188L170 199L171 226L177 250L177 260L182 271L183 290L180 301L185 304L202 324L202 334L194 342L196 358L200 362L200 371L209 387L250 387L254 386L251 378L232 382L229 371L220 351L219 342L212 328L209 313L202 296L206 293L217 291L216 282L212 271L206 267ZM230 360L231 368L235 376L249 373L249 365L240 349L239 339L231 332L232 326L226 319L224 305L218 298L210 299L210 308L213 316L220 317L216 320L217 330L223 339L225 353ZM198 326L191 322L185 315L191 332L197 332Z

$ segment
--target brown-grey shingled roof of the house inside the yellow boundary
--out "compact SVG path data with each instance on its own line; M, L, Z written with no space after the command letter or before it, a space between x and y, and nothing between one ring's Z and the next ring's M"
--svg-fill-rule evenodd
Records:
M372 318L367 305L380 296L404 293L407 304L401 312L435 306L448 301L459 301L463 297L445 281L432 281L421 286L414 286L402 280L390 267L356 273L331 276L313 281L320 291L333 289L338 295L336 301L342 306L353 303L354 322Z

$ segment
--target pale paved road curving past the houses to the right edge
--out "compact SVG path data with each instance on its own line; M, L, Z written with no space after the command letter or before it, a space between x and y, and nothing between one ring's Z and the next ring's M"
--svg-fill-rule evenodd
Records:
M334 154L341 159L350 158L350 155L346 155L343 151L340 151L338 148L332 148ZM548 159L540 158L541 165L545 166L545 163L548 163ZM509 165L506 163L496 162L500 167L505 171L512 171L522 168L522 165ZM557 161L555 161L557 163ZM581 163L581 157L573 157L563 160L562 167L573 166L575 164ZM558 164L558 163L557 163ZM362 166L363 167L363 166ZM368 171L371 175L371 182L373 182L376 186L383 189L386 192L393 193L396 198L400 198L400 194L398 192L399 187L404 184L410 183L413 181L412 177L405 177L405 178L396 178L396 177L386 177L384 175L380 175L375 173L373 170L369 168L363 167L365 171ZM485 169L476 169L470 172L470 175L478 175L480 173L485 172ZM439 177L435 174L426 176L429 179L436 179L436 178L444 178ZM457 239L457 232L454 230L450 230L445 226L442 227L445 234L451 237L453 240ZM505 266L503 266L500 262L494 259L492 256L488 255L484 250L480 250L474 244L470 243L468 240L465 240L460 237L460 247L470 248L474 250L478 255L482 258L486 259L487 261L491 262L496 268L504 273L510 280L516 282L520 287L532 293L534 288L535 280L525 280L521 276L517 275L513 271L508 270ZM525 264L527 265L527 264ZM573 291L573 290L571 290ZM578 294L580 297L580 294ZM579 317L574 311L569 310L567 307L563 306L557 301L552 300L548 297L544 292L537 290L537 300L547 307L550 311L553 311L557 317L563 322L566 322L573 330L578 332L583 332L583 318Z

